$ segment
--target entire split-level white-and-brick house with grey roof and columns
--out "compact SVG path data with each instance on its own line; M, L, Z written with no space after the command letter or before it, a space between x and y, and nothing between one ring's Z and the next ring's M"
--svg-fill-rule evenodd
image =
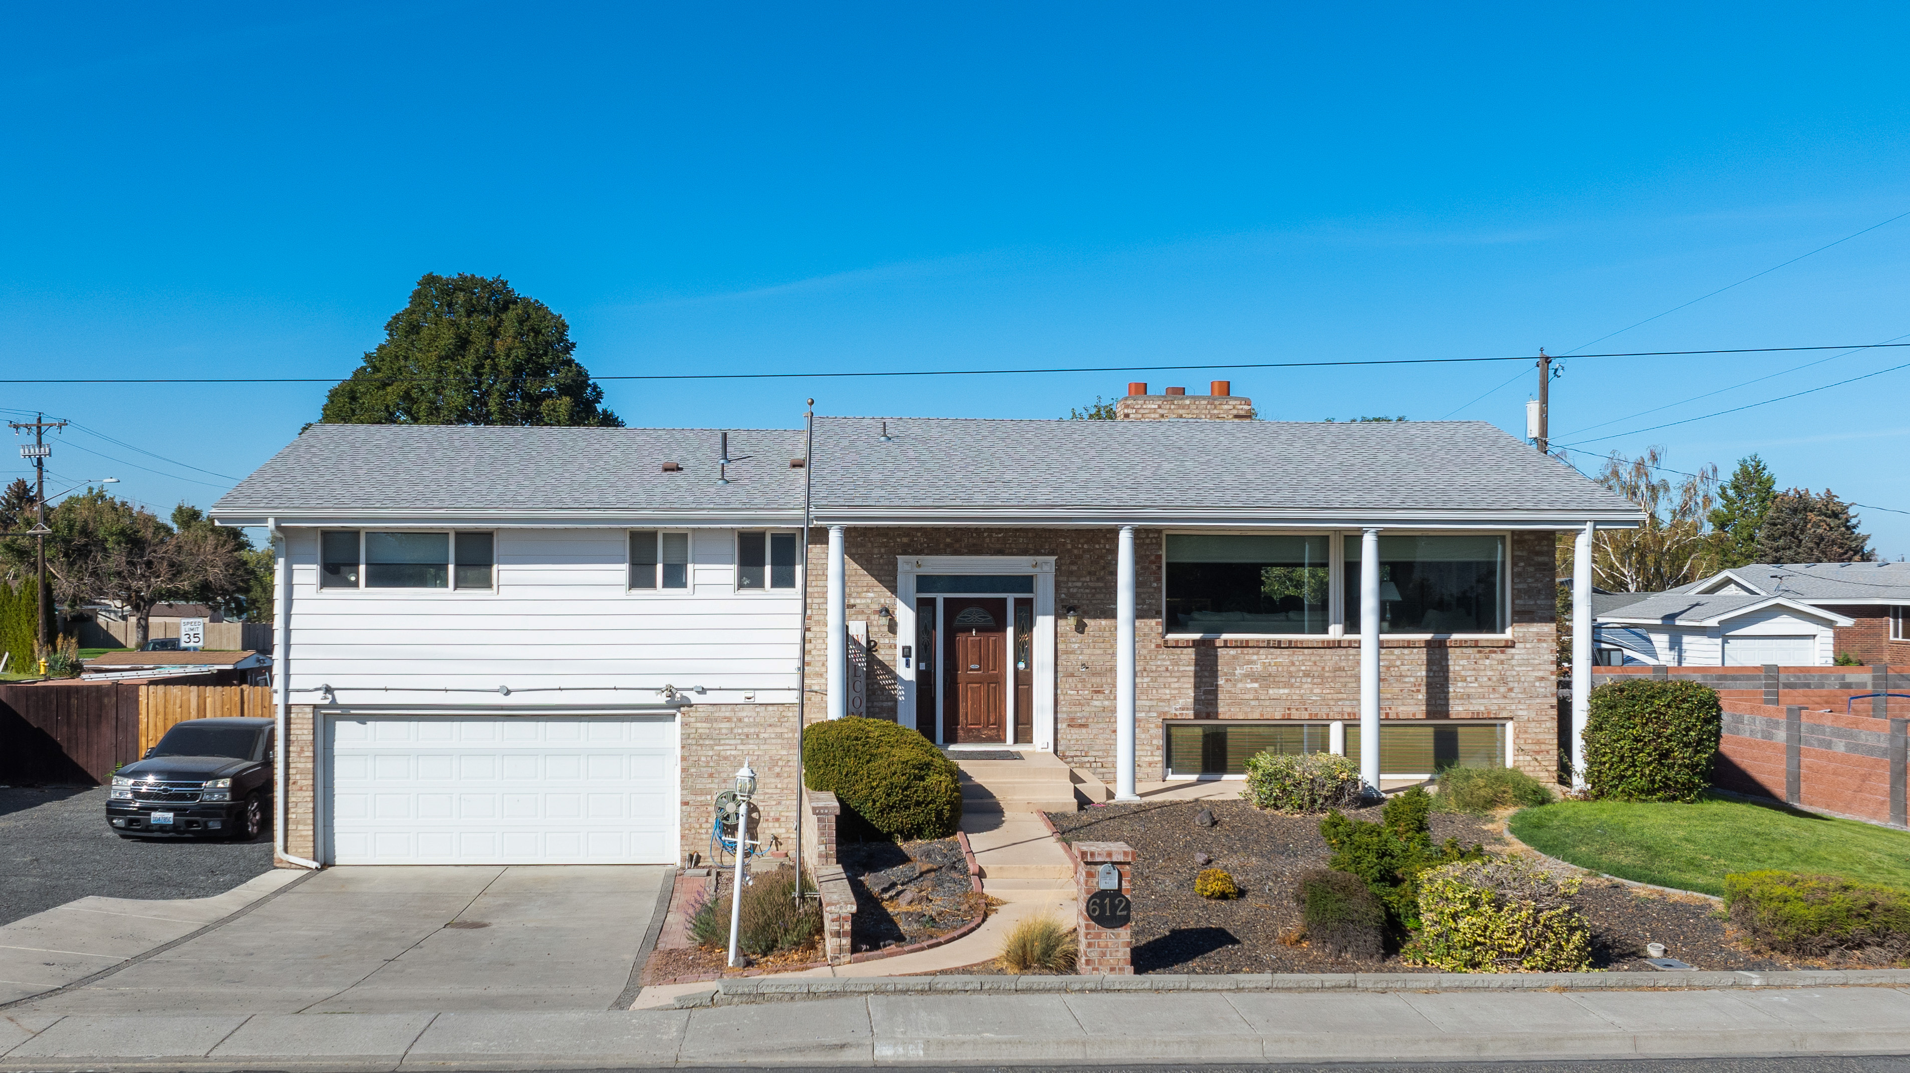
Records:
M311 426L212 508L283 538L290 853L674 863L743 760L787 850L798 697L1117 792L1362 756L1362 724L1375 779L1555 773L1555 533L1629 502L1480 422L1140 388L1114 422L817 418L814 458L796 430Z

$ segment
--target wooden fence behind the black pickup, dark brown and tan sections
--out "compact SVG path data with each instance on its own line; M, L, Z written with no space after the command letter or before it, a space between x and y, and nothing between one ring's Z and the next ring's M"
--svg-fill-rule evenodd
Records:
M105 783L174 724L271 714L269 685L0 685L0 785Z

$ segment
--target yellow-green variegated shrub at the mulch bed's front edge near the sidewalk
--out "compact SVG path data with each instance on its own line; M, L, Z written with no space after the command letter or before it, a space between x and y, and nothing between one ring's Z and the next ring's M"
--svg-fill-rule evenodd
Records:
M1446 972L1585 972L1591 924L1570 901L1578 884L1528 857L1432 869L1419 876L1419 936L1406 953Z

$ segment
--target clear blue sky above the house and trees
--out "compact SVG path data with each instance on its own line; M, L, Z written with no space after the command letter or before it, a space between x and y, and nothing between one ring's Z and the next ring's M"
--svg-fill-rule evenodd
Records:
M1601 340L1910 212L1906 23L1881 4L15 8L0 355L6 376L344 376L424 271L510 279L598 374L1910 342L1910 218ZM1759 451L1782 485L1910 512L1910 368L1635 431L1910 363L1836 353L1568 361L1555 439L1727 472ZM1228 378L1263 416L1522 435L1536 374L1515 376L605 391L628 424L793 426L806 395L1062 416L1127 380ZM8 410L151 452L73 431L52 470L162 512L210 504L231 483L212 473L246 473L321 399L0 386ZM1910 554L1910 514L1862 521Z

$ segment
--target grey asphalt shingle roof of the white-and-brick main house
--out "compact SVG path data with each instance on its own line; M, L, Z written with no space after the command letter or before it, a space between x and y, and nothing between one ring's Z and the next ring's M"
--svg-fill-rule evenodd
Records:
M1631 514L1486 422L817 418L816 506ZM214 506L800 510L796 430L317 424ZM663 473L663 462L686 472Z

